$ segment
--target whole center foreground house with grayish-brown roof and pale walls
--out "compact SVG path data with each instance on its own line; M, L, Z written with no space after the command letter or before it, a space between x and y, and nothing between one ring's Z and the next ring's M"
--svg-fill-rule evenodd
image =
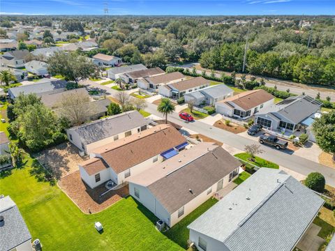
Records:
M129 193L172 227L224 188L241 163L214 143L200 143L128 180Z

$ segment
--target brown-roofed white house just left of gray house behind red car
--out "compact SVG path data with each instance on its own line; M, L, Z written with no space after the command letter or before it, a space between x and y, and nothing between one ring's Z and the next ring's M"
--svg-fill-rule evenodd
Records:
M184 81L161 85L158 87L158 93L168 98L181 98L185 93L202 89L209 84L209 80L204 79L204 77L193 77Z

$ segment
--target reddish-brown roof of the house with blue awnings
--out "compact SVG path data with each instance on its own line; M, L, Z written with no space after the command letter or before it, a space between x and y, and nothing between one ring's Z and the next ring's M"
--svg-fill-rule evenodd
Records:
M92 152L100 154L119 174L184 142L185 137L176 129L162 125L119 139Z

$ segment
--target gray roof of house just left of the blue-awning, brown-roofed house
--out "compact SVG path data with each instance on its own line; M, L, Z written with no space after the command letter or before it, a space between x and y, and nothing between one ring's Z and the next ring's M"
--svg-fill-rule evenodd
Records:
M147 119L144 119L139 112L131 111L99 119L91 123L85 123L82 126L73 127L69 130L77 132L80 135L82 143L91 144L112 135L144 126L147 123Z

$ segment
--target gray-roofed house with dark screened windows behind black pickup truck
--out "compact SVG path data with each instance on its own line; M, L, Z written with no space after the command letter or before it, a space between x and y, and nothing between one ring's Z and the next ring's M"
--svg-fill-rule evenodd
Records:
M311 126L314 114L321 106L322 102L310 96L293 96L260 111L255 116L255 123L269 130L295 132Z

